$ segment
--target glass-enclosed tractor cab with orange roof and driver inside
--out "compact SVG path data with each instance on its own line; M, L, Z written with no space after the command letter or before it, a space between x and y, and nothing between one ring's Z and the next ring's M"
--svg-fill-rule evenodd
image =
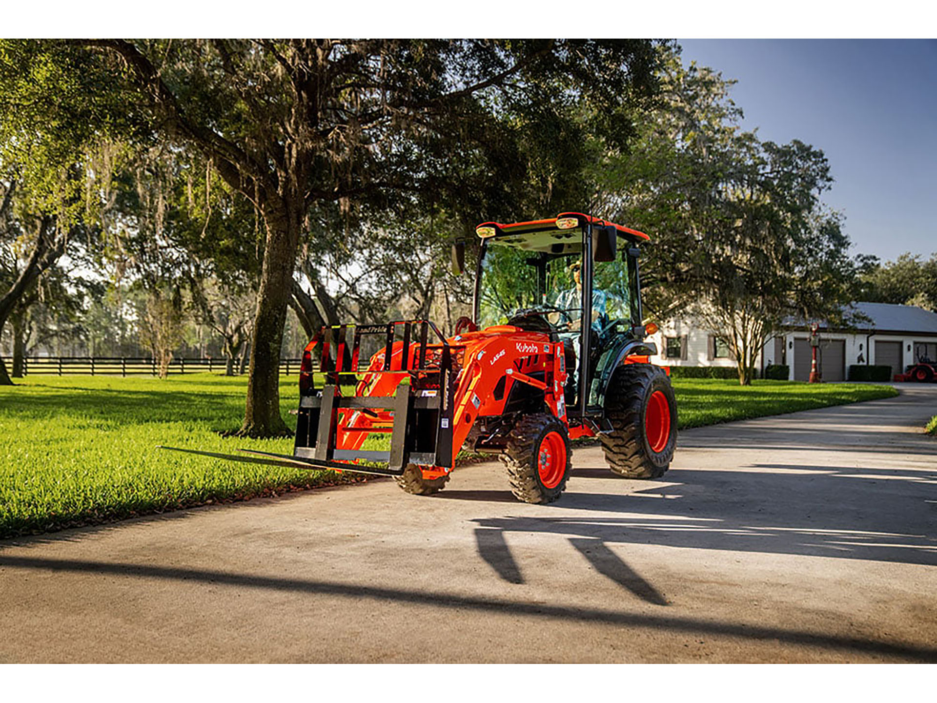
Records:
M561 341L570 419L602 419L605 389L644 342L638 248L647 234L578 213L476 228L482 239L474 322L513 325Z

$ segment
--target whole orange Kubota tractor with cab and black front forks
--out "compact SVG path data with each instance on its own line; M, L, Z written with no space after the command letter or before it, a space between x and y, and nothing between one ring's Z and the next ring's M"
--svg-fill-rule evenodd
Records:
M322 328L303 356L293 455L249 454L392 475L429 495L466 447L498 455L519 500L547 503L570 476L570 439L598 436L611 471L662 476L677 406L668 373L648 360L656 327L643 322L638 272L647 234L579 213L475 232L473 319L460 318L452 337L424 320ZM464 261L457 242L455 273Z

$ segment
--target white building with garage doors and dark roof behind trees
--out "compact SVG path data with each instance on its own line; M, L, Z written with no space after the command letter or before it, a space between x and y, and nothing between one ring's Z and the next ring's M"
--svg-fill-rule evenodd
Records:
M921 359L937 361L937 313L921 307L887 303L855 303L854 308L868 321L856 322L854 329L829 328L820 324L817 361L824 381L845 381L849 366L891 366L892 374ZM735 366L728 345L713 330L691 319L664 322L648 339L660 351L651 357L663 366ZM759 374L765 366L782 364L790 368L790 379L807 381L811 372L810 333L806 327L768 339L755 360Z

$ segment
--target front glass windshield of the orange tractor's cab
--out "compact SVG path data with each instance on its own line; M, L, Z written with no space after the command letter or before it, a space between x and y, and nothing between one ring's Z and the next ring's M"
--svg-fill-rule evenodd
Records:
M479 283L479 326L539 317L556 331L578 328L582 318L581 246L566 253L489 241Z

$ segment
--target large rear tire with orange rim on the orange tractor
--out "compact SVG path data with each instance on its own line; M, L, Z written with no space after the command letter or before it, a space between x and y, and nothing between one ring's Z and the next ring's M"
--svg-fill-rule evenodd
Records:
M677 449L677 399L660 366L616 369L605 395L611 432L600 434L609 469L626 478L660 478Z

